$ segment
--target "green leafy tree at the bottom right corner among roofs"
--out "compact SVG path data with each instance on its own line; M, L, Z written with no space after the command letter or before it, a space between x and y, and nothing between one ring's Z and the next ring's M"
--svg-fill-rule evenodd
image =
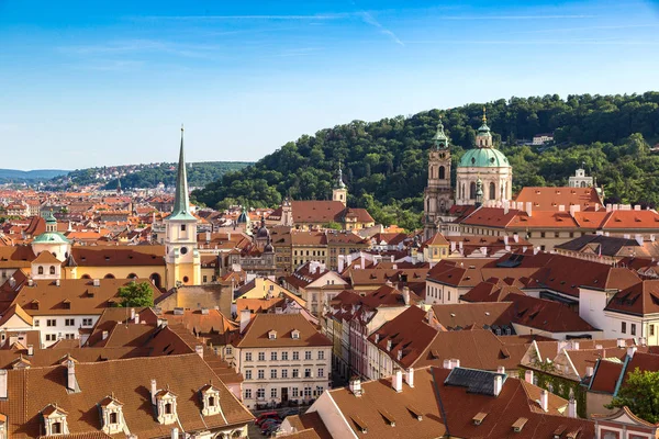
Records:
M659 372L629 372L627 382L606 408L627 406L639 418L659 423Z

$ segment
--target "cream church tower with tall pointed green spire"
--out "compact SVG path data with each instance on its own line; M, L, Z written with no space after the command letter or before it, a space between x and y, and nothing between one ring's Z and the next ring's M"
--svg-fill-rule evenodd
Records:
M165 228L167 285L171 288L176 284L201 284L201 259L197 249L197 218L190 213L182 126L174 211L165 218Z

